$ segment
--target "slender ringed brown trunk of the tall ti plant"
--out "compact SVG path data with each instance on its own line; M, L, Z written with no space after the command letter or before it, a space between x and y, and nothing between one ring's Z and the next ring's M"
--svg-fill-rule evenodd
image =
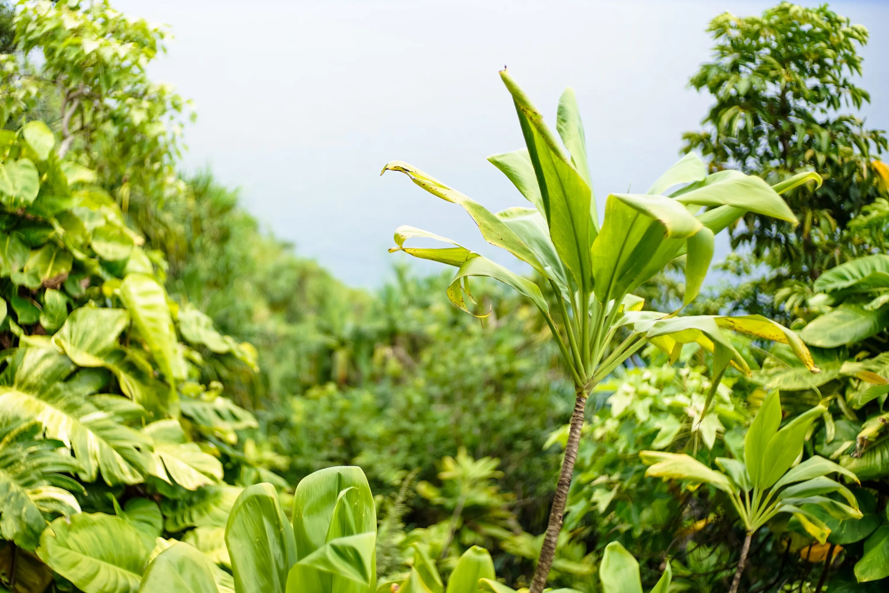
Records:
M556 556L558 533L562 530L562 518L565 515L565 501L568 500L574 462L577 461L577 450L581 443L583 409L587 405L589 389L589 386L577 389L577 400L574 402L574 413L571 415L571 429L568 431L568 442L565 445L565 460L562 461L562 471L559 473L553 506L549 510L549 525L547 525L547 534L543 537L541 557L537 560L537 568L534 570L534 579L531 581L531 589L528 593L541 593L547 586L549 567L552 566L553 557Z

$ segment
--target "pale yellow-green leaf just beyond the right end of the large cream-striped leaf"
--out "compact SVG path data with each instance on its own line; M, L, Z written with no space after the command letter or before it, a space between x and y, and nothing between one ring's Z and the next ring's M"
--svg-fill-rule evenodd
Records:
M179 421L152 422L142 432L154 443L148 465L148 473L152 476L167 484L175 482L186 490L197 490L222 481L222 463L201 451L196 443L188 443Z

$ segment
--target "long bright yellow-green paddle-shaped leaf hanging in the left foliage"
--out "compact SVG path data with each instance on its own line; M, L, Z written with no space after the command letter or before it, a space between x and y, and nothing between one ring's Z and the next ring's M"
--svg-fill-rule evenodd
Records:
M126 308L130 310L133 325L170 385L169 412L176 415L179 413L175 395L175 367L179 365L176 356L177 340L164 287L151 276L127 274L120 286L120 295Z

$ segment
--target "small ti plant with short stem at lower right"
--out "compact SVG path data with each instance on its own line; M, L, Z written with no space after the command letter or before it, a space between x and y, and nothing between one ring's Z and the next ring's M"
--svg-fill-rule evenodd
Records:
M779 513L792 513L822 544L827 541L830 529L810 510L810 505L820 507L838 519L861 518L853 493L828 477L837 473L858 482L852 471L818 455L794 467L803 453L805 436L812 422L825 410L824 406L816 405L779 429L781 402L777 391L770 392L744 437L744 459L717 458L721 472L709 469L685 453L639 453L642 461L653 464L645 472L646 476L709 484L725 492L732 501L747 535L730 593L738 590L753 534ZM849 504L829 498L827 494L837 494Z

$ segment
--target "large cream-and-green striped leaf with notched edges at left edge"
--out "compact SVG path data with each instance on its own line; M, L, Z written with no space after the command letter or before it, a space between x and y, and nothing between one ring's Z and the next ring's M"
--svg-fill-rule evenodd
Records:
M63 381L74 369L53 349L19 349L12 388L0 388L0 418L39 422L47 437L70 448L80 477L92 482L101 474L108 485L139 484L147 467L143 450L150 441L103 413L90 398Z

